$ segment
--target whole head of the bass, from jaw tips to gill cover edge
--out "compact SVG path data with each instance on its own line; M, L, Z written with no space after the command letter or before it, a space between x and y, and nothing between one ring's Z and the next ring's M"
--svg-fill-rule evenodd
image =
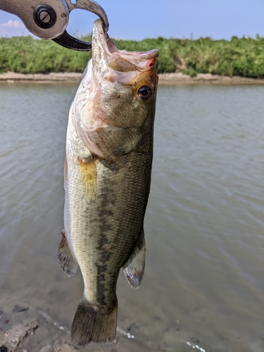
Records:
M90 151L101 157L106 156L106 149L127 153L139 142L140 134L153 129L157 56L156 49L117 49L101 20L94 22L92 59L77 92L80 117L75 116L75 130Z

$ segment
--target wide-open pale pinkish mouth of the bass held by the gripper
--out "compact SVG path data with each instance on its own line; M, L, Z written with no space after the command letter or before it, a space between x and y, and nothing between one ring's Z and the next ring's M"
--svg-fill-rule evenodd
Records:
M158 57L157 49L142 52L119 50L104 32L101 20L94 22L92 53L93 61L102 74L108 73L109 69L129 73L156 67Z

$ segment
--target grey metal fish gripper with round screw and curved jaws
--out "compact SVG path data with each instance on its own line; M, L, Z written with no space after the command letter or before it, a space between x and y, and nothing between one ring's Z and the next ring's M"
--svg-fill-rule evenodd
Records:
M90 51L92 44L72 37L66 31L70 11L86 10L101 18L105 32L108 18L101 6L92 0L0 0L0 10L17 15L27 30L41 39L52 39L65 48Z

